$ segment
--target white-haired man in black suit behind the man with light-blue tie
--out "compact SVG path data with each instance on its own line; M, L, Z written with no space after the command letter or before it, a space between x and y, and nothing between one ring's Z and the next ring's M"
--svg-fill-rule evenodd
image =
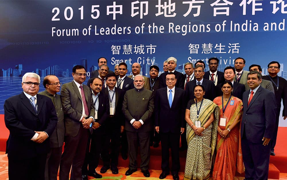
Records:
M173 72L175 74L175 77L177 78L177 83L175 84L175 87L179 87L181 89L184 89L184 77L183 77L183 73L180 73L178 71L175 71L175 67L177 67L177 59L175 59L174 57L169 57L167 59L167 67L168 67L168 71L164 72L160 75L160 88L166 87L166 83L165 83L165 77L167 75L168 72Z

